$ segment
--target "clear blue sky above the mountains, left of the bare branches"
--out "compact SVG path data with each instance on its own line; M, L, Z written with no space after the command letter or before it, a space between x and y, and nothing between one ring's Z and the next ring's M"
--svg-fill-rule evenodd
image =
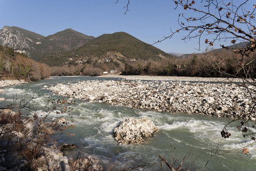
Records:
M47 36L72 28L90 36L124 31L152 44L178 28L181 11L170 0L0 0L0 27L17 26ZM197 40L185 43L182 34L155 44L165 52L198 52ZM205 49L202 44L201 50ZM219 48L219 47L218 47Z

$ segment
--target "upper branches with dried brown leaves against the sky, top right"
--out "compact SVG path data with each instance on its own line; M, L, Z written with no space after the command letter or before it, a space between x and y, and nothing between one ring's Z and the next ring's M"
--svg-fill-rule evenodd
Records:
M255 51L256 20L254 1L174 1L175 9L182 10L179 14L179 28L171 30L169 36L159 40L172 38L181 31L182 40L198 39L199 50L201 42L210 46L218 41L230 41L230 44L247 42L246 46L237 46L233 49L243 56ZM157 42L155 42L157 43ZM229 48L221 44L222 48Z

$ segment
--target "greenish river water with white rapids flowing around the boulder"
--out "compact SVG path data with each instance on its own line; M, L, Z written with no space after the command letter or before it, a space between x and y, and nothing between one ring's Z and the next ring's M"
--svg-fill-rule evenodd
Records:
M35 99L31 101L31 104L38 107L39 114L43 113L49 96L53 96L54 99L62 98L54 95L44 86L49 87L57 83L75 83L78 80L92 79L110 80L111 78L54 77L39 82L2 88L4 92L1 95L5 99L33 95ZM147 165L144 170L161 170L159 154L169 162L171 162L170 156L172 154L181 159L190 154L187 161L198 157L197 168L201 169L204 168L218 146L220 150L208 162L206 170L256 169L256 145L253 144L248 147L249 153L242 153L242 149L239 148L249 145L253 141L243 138L241 132L238 132L236 128L237 123L229 125L229 132L231 133L229 139L221 137L220 132L230 121L229 119L186 113L143 111L109 104L89 103L82 100L76 100L73 108L70 113L58 115L51 113L50 117L53 119L65 117L68 121L72 120L72 124L76 126L67 130L69 133L74 133L75 136L61 135L58 142L77 144L79 151L99 157L104 166L113 165L114 162L121 168L127 163L138 164L138 162L146 161ZM160 131L145 144L118 145L112 132L118 123L126 117L147 117ZM65 154L71 156L74 151ZM166 167L165 170L167 170Z

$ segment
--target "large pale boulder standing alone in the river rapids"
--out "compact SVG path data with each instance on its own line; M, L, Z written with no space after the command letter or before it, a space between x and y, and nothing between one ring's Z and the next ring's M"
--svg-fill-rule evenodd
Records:
M158 131L149 119L127 117L114 129L114 136L119 144L139 144L147 141Z

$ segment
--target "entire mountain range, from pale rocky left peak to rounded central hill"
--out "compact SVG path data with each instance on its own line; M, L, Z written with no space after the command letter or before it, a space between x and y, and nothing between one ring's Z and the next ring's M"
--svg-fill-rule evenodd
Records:
M69 28L42 36L23 28L4 26L0 30L0 44L49 66L62 66L71 59L107 58L122 63L123 60L175 58L126 32L103 34L94 38Z

